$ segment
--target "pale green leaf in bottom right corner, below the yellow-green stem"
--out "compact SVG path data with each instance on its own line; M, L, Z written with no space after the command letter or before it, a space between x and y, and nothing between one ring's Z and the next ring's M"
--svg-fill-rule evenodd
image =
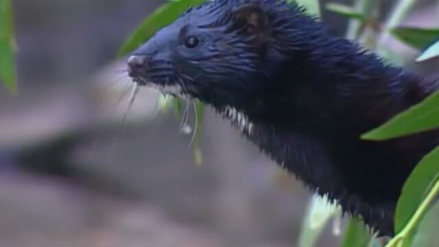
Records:
M418 226L418 231L414 236L410 246L439 246L439 203L436 203L424 216L423 221Z

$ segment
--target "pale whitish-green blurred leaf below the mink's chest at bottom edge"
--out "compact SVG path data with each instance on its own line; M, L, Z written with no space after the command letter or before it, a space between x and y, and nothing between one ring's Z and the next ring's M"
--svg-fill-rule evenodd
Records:
M324 226L338 211L340 211L340 207L331 204L326 196L313 195L303 219L298 247L315 246Z

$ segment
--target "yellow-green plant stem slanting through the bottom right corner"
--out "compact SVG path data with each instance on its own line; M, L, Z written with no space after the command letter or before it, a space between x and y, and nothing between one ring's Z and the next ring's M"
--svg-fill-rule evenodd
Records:
M418 222L420 222L423 215L425 215L425 213L429 209L431 202L433 202L433 200L436 198L438 193L439 193L439 180L436 182L434 187L428 193L427 198L425 198L425 200L423 200L423 202L419 205L418 209L416 210L410 221L403 228L403 231L401 231L392 240L390 240L390 242L385 247L399 246L398 244L400 244L401 241L404 241L404 239L414 230L414 228L416 228Z

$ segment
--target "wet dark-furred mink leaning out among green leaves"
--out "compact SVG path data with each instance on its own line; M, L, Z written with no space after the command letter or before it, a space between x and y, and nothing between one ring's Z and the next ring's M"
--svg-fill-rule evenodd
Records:
M379 235L438 130L388 141L361 134L436 91L438 80L392 66L276 0L189 8L127 60L134 83L200 99L254 145Z

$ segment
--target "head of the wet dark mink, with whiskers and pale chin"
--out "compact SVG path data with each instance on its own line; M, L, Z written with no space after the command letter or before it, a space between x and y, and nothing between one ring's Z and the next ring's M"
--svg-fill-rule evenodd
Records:
M191 8L128 59L130 77L217 108L245 107L287 69L320 25L278 0L218 0Z

